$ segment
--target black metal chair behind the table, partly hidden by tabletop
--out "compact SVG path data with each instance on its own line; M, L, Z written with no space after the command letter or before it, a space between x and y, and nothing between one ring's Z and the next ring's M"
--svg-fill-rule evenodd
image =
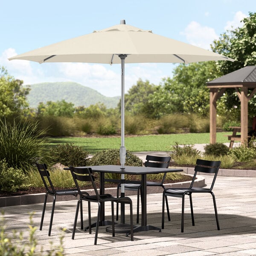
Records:
M157 167L157 168L168 168L171 161L171 157L157 157L157 156L146 156L145 167ZM147 186L161 186L165 189L163 183L166 178L166 173L163 175L163 179L160 182L147 181ZM117 186L116 196L119 197L119 189L121 183ZM125 184L125 190L137 191L137 218L136 223L139 223L139 212L140 212L140 195L141 195L141 184L127 183ZM167 202L167 198L166 198ZM116 205L116 220L118 221L118 204Z

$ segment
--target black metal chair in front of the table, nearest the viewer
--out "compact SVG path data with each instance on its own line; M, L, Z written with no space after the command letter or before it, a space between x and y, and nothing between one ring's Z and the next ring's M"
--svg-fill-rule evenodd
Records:
M79 167L73 167L70 166L70 171L72 173L73 179L76 183L77 190L79 192L79 200L77 202L76 207L76 215L75 215L75 221L74 221L74 227L73 227L73 235L72 239L75 238L75 232L76 232L76 223L77 223L77 217L79 212L79 205L82 203L82 201L88 202L88 215L89 215L89 233L92 233L91 229L91 213L90 213L90 202L98 203L98 214L97 214L97 221L96 221L96 233L95 233L95 239L94 244L97 244L97 238L98 238L98 231L99 231L99 218L100 218L100 211L102 207L102 203L110 201L111 202L111 215L112 215L112 236L115 236L115 228L114 228L114 202L124 203L130 205L130 222L131 222L131 241L134 240L133 236L133 212L132 212L132 201L129 197L123 197L123 198L115 198L110 194L103 194L99 195L97 191L97 187L94 183L94 176L91 168L79 168ZM95 191L95 195L88 195L85 196L81 193L79 189L78 180L80 181L90 181L93 185L93 189Z

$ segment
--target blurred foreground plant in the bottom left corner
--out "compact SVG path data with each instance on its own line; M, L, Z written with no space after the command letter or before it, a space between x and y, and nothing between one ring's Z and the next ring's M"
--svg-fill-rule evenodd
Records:
M30 224L28 225L29 237L28 239L23 238L23 232L17 233L16 230L13 230L12 233L7 233L5 219L2 216L0 218L0 255L2 256L62 256L64 255L63 249L63 238L60 237L60 244L58 246L54 246L52 243L50 244L50 248L44 253L43 247L38 248L38 241L35 238L36 227L33 227L32 221L33 214L30 214ZM11 234L11 235L10 235ZM49 245L47 245L49 247ZM40 250L40 251L39 251Z

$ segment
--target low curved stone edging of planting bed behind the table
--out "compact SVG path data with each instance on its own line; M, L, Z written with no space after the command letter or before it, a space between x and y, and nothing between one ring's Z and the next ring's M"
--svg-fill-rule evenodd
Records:
M188 174L190 175L190 174ZM195 186L203 187L205 186L205 180L204 177L198 176L198 179L195 180ZM183 188L183 187L189 187L190 181L186 182L177 182L177 183L169 183L165 184L166 188ZM88 189L86 192L88 192L90 195L92 195L93 189ZM105 189L106 193L116 195L116 188L107 188ZM148 194L157 194L162 193L163 188L159 186L150 186L147 188ZM136 191L129 191L127 190L125 192L125 195L137 195ZM24 205L24 204L42 204L44 203L45 193L40 194L30 194L30 195L15 195L15 196L5 196L0 197L0 207L9 207L9 206L15 206L15 205ZM69 200L75 200L76 197L73 195L63 195L56 197L56 201L69 201ZM47 203L52 202L52 197L47 198Z

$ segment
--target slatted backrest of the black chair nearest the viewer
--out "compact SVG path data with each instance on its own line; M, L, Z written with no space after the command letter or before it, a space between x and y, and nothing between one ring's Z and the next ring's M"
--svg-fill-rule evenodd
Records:
M72 177L74 179L74 182L76 184L76 188L77 188L77 191L78 191L80 197L83 195L82 195L81 189L79 187L79 184L77 182L78 180L91 182L98 200L99 201L101 200L101 198L99 196L99 192L96 187L96 184L94 183L95 178L93 176L93 171L91 168L81 168L81 167L70 166L70 171L71 171Z

